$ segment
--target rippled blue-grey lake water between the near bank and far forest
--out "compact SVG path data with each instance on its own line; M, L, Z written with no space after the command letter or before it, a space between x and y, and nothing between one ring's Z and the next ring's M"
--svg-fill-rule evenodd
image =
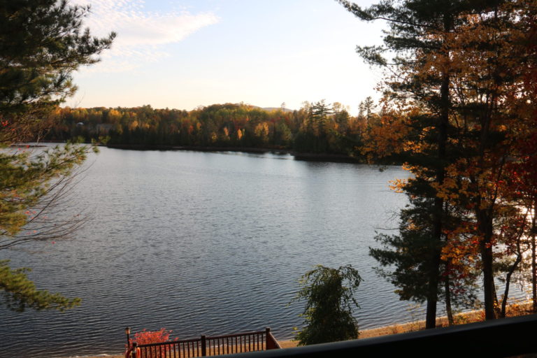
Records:
M90 165L91 164L91 165ZM0 309L0 357L122 352L124 327L174 337L301 325L287 307L316 264L352 264L361 329L410 320L409 303L373 271L375 230L406 203L399 167L300 162L290 155L102 148L73 189L89 220L71 241L3 250L38 287L83 298L66 313ZM396 232L396 231L390 231Z

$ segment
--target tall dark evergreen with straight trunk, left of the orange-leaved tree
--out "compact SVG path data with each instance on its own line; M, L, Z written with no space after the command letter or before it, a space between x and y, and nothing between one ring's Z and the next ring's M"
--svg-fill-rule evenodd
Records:
M412 295L427 299L426 327L434 328L443 274L441 254L445 245L444 233L450 221L448 213L451 212L435 188L443 185L447 166L459 155L457 149L450 146L454 131L450 123L450 81L454 73L449 66L450 50L446 43L451 34L468 21L463 15L484 11L495 1L382 1L366 9L350 1L338 2L361 20L382 19L389 22L390 31L384 38L385 45L358 47L357 52L370 64L390 66L397 73L385 83L387 103L396 101L400 108L420 108L406 113L404 125L408 137L403 138L406 148L401 149L415 178L401 182L399 189L411 199L410 208L401 213L401 219L407 221L402 225L413 231L421 230L421 233L403 234L401 238L409 241L408 247L417 247L410 242L414 240L423 245L424 250L414 259L422 262L417 267L421 268L424 282L419 285L422 291ZM384 57L385 52L394 52L396 57L389 60ZM423 69L431 67L431 62L436 64L435 71L421 76ZM415 225L415 222L421 224ZM424 238L427 245L424 245ZM385 262L382 257L386 260L394 252L397 252L396 247L372 253L382 263Z

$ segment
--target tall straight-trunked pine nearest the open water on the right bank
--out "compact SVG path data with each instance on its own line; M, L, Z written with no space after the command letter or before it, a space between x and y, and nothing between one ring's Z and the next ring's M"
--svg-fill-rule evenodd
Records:
M387 100L396 100L402 106L406 101L420 103L424 109L420 113L408 116L408 127L415 127L412 134L413 141L421 139L424 134L426 143L421 148L406 150L408 166L417 174L414 179L408 180L401 189L411 198L420 197L422 200L413 203L420 210L430 215L428 222L423 224L430 232L429 245L421 259L427 262L422 271L426 284L422 287L422 294L427 297L426 327L436 325L436 306L438 301L438 286L441 275L441 248L443 242L443 217L445 216L444 201L435 195L431 188L432 182L442 183L447 164L447 129L449 127L450 110L450 71L442 67L431 78L413 76L417 69L424 66L426 59L418 57L419 53L434 53L443 59L449 54L443 48L445 38L454 29L457 12L460 12L461 3L457 1L386 1L362 9L355 3L339 1L351 13L361 20L372 21L384 19L389 22L390 32L385 37L384 46L358 47L357 52L367 62L378 66L393 66L395 71L401 71L403 76L392 76L386 84ZM388 60L383 56L388 50L398 56ZM427 101L425 101L427 99ZM408 217L409 224L418 220L417 217ZM416 227L416 226L415 226ZM417 229L420 226L416 227ZM381 252L377 252L377 257ZM390 255L389 250L385 255Z

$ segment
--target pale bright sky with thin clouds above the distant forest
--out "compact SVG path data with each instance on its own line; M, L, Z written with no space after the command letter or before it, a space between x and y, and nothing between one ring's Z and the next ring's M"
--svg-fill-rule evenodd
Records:
M355 0L361 6L373 0ZM355 52L380 45L382 22L361 22L334 0L71 0L85 26L117 33L101 62L74 73L64 106L192 110L244 102L299 109L339 102L357 113L382 71Z

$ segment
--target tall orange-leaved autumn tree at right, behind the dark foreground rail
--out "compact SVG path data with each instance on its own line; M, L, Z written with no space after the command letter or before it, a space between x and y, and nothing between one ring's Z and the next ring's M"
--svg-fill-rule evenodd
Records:
M517 143L531 130L527 101L534 98L522 84L534 55L525 43L535 15L536 1L492 3L480 13L464 15L464 24L447 39L450 67L456 73L453 143L461 155L448 166L446 180L436 189L451 205L472 213L475 227L466 232L466 247L472 252L475 245L480 257L487 320L500 313L494 284L500 246L513 248L506 255L515 257L515 266L506 269L507 288L522 259L520 238L525 233L502 228L520 227L527 215L513 206L513 192L503 183L515 175L507 169L522 159ZM450 250L448 245L445 252ZM507 296L506 290L503 312Z

